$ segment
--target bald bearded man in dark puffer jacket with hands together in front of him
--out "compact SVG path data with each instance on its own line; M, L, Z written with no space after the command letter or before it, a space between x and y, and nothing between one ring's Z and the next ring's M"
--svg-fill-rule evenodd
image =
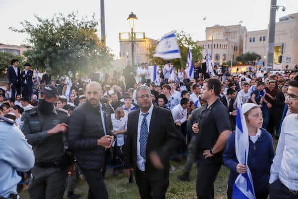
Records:
M86 103L74 109L69 122L69 147L89 185L88 199L108 199L102 171L105 149L114 141L110 108L101 103L102 90L97 82L87 85Z

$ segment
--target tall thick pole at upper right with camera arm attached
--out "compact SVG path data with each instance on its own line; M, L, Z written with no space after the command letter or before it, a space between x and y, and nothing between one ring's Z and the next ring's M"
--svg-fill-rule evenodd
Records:
M276 14L276 0L271 0L270 20L269 20L268 53L267 53L267 67L266 67L267 73L269 73L270 70L273 69L275 14Z

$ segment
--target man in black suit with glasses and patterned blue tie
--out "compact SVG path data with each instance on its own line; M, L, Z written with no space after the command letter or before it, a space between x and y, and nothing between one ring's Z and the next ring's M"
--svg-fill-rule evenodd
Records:
M136 96L140 109L128 115L124 167L128 175L135 171L141 199L165 199L169 186L169 156L182 136L171 112L152 105L147 86L138 87Z

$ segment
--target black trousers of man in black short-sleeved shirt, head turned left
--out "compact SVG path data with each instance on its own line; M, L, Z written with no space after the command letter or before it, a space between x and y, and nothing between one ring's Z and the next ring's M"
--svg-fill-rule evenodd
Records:
M196 183L198 199L214 199L213 183L221 166L221 163L207 163L205 160L200 160Z

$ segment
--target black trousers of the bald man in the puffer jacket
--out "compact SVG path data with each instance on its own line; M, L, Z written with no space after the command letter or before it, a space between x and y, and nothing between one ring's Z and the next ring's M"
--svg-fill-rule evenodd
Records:
M87 199L108 199L108 190L104 183L101 170L82 170L89 185Z

